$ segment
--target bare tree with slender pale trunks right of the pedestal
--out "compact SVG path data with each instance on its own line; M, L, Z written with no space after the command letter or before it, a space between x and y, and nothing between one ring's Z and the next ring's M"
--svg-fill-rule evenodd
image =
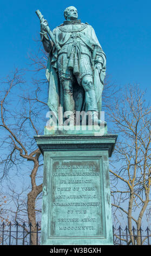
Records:
M110 118L119 135L111 162L113 206L128 218L130 241L141 244L141 226L150 205L151 185L151 108L139 86L127 86L118 98ZM116 163L116 164L115 164Z

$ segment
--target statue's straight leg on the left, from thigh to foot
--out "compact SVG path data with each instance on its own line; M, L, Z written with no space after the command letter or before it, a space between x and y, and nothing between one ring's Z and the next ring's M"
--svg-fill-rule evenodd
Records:
M62 81L63 85L63 101L64 101L64 117L68 118L68 125L74 125L75 102L73 99L73 82L71 80Z

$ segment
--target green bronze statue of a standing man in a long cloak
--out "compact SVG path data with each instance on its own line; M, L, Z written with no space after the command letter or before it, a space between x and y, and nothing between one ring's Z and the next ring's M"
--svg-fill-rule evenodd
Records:
M46 76L49 81L48 106L58 117L58 107L74 125L75 111L91 113L93 121L101 111L103 81L106 75L106 56L94 29L78 20L77 9L64 10L65 21L56 27L56 47L47 34L47 20L41 20L41 40L49 53Z

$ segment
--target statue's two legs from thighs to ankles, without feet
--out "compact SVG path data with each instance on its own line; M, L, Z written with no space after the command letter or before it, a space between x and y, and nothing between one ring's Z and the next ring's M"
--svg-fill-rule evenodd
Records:
M67 53L62 53L58 56L58 75L64 91L64 107L65 111L74 111L73 100L73 81L76 80L85 90L85 101L88 111L97 111L97 102L95 89L93 84L93 71L90 65L89 56L81 54L78 60L80 72L74 74L72 69L68 68Z

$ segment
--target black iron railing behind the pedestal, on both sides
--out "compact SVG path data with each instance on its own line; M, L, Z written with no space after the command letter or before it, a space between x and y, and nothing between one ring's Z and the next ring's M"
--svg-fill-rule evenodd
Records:
M34 231L33 231L34 229ZM133 227L131 236L129 235L128 227L115 228L113 226L113 240L114 245L137 245L140 237L140 245L151 245L150 229L140 228L139 236L136 229ZM37 222L36 227L31 223L22 224L16 222L14 224L2 223L0 227L0 245L40 245L41 243L41 228L40 223Z

